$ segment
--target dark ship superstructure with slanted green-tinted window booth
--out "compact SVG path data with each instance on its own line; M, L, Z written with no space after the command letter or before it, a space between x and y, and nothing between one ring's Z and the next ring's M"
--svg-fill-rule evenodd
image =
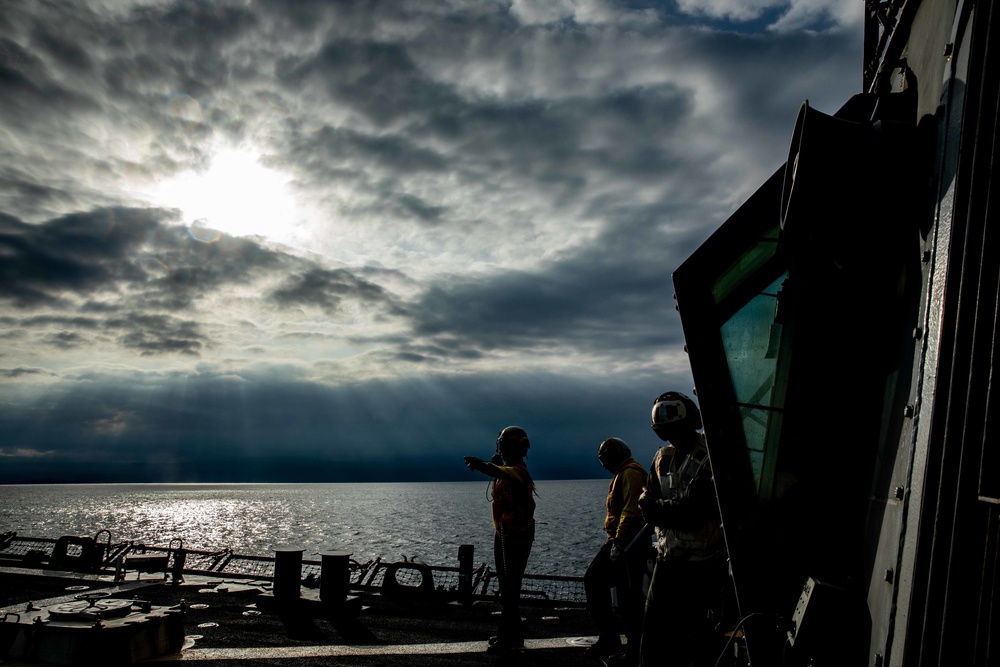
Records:
M861 92L673 274L754 665L990 665L997 10L866 2Z

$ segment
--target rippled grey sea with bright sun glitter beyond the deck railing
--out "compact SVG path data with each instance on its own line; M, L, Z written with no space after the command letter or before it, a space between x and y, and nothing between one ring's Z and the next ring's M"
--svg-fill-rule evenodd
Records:
M582 576L606 539L609 480L536 481L536 534L528 571ZM356 484L56 484L0 485L0 533L25 537L94 536L112 543L270 556L303 549L317 559L347 551L364 563L404 556L458 565L493 563L488 480ZM104 541L102 535L101 541Z

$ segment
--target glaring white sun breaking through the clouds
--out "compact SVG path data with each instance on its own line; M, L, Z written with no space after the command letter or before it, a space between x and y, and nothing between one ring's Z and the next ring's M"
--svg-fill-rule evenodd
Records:
M301 217L290 182L265 166L259 151L227 147L212 155L206 169L161 181L150 195L158 206L179 209L192 228L290 241Z

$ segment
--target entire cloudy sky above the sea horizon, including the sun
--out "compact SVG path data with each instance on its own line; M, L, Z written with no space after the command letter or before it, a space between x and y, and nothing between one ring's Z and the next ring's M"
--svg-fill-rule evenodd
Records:
M0 483L605 476L842 0L4 0Z

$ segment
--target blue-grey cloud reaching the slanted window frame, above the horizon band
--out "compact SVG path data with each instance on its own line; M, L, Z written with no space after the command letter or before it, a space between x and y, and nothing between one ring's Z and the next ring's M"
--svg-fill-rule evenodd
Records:
M622 225L538 271L433 286L412 309L414 330L449 344L423 354L548 347L624 359L681 345L669 275L701 232L675 248L661 247L658 234L653 224Z

